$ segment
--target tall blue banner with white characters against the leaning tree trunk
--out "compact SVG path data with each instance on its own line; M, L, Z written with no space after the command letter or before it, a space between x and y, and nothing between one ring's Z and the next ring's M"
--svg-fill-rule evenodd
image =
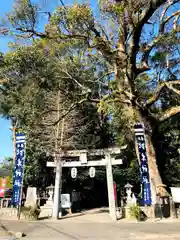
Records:
M141 123L135 125L135 137L138 145L140 160L141 184L142 184L142 201L144 205L151 205L151 185L149 178L148 158L146 152L146 140L144 126Z

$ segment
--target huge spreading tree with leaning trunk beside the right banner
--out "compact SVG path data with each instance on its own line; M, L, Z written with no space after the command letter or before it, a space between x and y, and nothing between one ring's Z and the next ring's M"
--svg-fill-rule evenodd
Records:
M11 33L18 39L41 38L57 44L79 41L86 47L89 57L96 55L97 62L107 62L109 71L105 75L114 78L108 94L94 99L90 88L85 88L78 79L77 84L83 92L86 90L86 100L97 102L100 110L107 103L118 102L119 111L131 119L128 121L131 129L137 121L144 123L152 190L156 192L162 179L157 167L153 136L157 126L180 112L179 105L167 104L165 109L161 106L162 96L164 99L169 91L177 95L180 93L178 68L172 67L174 62L176 66L179 64L179 0L103 0L95 14L89 5L66 6L61 1L61 6L53 13L44 11L48 16L44 31L40 31L42 25L38 24L42 10L30 0L16 2L12 13L8 15L8 23ZM3 28L2 32L7 34L8 27ZM155 78L157 66L151 60L164 53L167 58L166 70ZM139 78L145 76L146 72L148 78L144 87L149 89L148 98L139 86ZM73 106L85 102L84 96Z

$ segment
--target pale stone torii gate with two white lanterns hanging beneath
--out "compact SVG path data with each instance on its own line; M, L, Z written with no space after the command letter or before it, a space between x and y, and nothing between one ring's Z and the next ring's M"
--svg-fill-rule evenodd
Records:
M113 220L117 219L116 205L114 199L114 186L113 186L113 172L112 165L122 164L122 159L116 159L121 153L121 150L126 149L126 146L121 148L107 148L95 150L72 150L54 154L55 161L47 162L47 167L56 168L55 188L54 188L54 203L52 217L57 219L59 217L59 203L60 203L60 185L62 180L63 167L95 167L105 166L107 176L108 188L108 202L109 213ZM88 159L88 158L94 158ZM100 158L100 160L96 160ZM60 206L61 209L61 206Z

